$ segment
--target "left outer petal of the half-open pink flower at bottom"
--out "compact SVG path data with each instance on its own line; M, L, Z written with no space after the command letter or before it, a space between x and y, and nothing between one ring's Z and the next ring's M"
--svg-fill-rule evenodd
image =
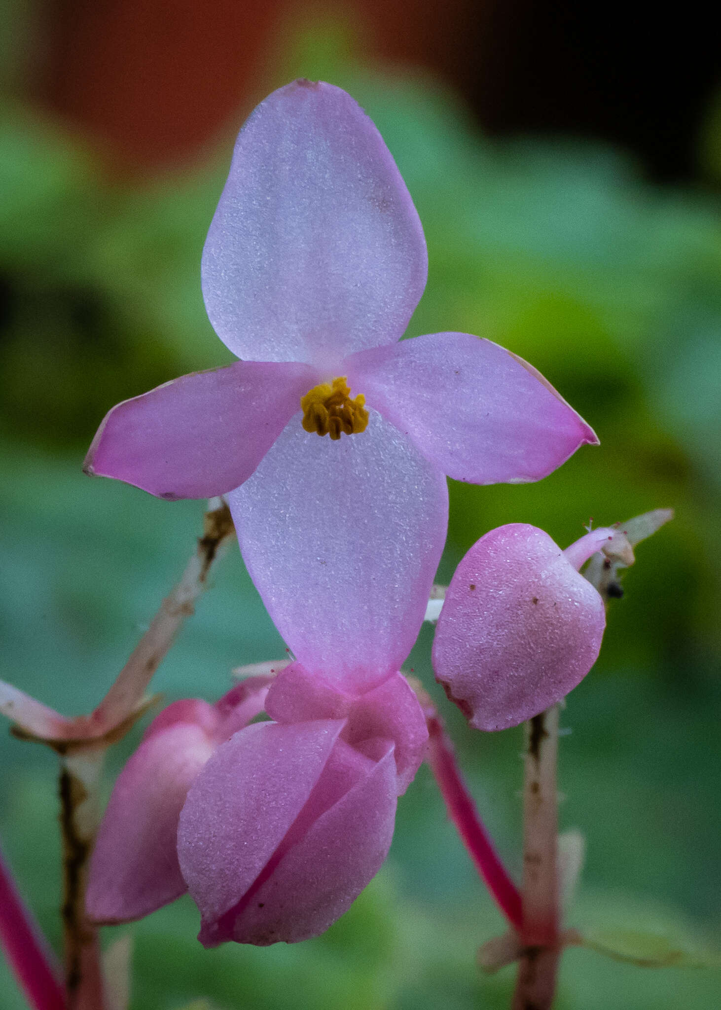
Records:
M215 751L188 793L178 828L183 876L213 922L250 887L303 809L343 726L261 722Z

